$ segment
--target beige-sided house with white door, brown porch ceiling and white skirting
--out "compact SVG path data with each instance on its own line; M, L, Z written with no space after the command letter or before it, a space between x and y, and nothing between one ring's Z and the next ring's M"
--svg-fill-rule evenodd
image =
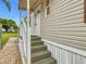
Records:
M84 0L34 0L32 35L41 37L58 64L86 64Z

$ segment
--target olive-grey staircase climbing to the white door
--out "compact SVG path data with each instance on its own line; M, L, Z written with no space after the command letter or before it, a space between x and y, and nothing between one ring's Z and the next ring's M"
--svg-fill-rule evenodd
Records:
M40 37L32 36L32 64L57 64Z

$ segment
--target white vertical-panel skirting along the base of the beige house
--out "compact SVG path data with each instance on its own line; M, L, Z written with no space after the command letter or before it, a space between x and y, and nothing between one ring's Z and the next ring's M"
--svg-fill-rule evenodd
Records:
M86 64L86 51L42 39L57 64Z

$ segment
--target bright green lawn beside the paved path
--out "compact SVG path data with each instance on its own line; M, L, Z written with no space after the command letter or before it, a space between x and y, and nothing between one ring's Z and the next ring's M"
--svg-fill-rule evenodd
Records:
M10 37L17 37L17 33L3 33L1 39L2 47L4 47Z

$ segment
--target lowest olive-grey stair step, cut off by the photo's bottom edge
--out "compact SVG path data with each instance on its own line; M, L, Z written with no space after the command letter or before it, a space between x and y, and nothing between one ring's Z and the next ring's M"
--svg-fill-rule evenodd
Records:
M32 64L57 64L57 62L52 57L47 57L37 62L33 62Z

